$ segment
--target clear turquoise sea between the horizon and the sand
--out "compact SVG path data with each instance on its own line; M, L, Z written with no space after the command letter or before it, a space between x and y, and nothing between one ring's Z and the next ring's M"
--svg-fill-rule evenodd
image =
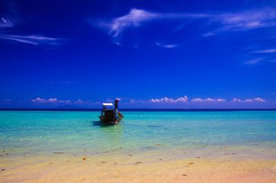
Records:
M136 153L199 147L276 152L276 111L123 111L102 125L96 111L0 111L0 154ZM188 151L188 150L187 150Z

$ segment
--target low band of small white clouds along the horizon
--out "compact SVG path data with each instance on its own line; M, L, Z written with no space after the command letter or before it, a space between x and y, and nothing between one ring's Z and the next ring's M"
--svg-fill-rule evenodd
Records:
M29 101L23 102L24 105L29 104L33 107L62 107L62 106L72 106L72 107L93 107L99 108L101 107L101 103L112 103L113 100L110 98L102 101L92 101L92 100L59 100L58 98L41 98L37 97ZM12 105L18 103L17 100L0 100L1 105ZM22 103L22 101L21 101ZM137 99L127 99L120 98L120 106L123 108L131 108L131 107L141 107L141 108L155 108L155 109L166 109L166 108L176 108L176 109L187 109L187 108L202 108L204 109L212 109L212 108L254 108L254 107L262 107L268 105L271 107L276 107L276 103L273 100L266 100L264 98L256 97L256 98L233 98L233 99L224 99L224 98L193 98L188 100L187 96L181 96L179 98L152 98L150 100L137 100Z

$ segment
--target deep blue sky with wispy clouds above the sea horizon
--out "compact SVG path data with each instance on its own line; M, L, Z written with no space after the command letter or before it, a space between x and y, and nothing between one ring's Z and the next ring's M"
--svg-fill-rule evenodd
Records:
M0 107L276 108L276 1L0 1Z

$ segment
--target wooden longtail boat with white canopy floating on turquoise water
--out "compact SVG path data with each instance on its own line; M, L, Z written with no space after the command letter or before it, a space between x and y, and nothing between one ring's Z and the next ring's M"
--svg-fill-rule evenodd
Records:
M114 101L114 108L112 103L103 103L99 120L104 123L117 125L124 118L118 111L118 103L119 99L116 99Z

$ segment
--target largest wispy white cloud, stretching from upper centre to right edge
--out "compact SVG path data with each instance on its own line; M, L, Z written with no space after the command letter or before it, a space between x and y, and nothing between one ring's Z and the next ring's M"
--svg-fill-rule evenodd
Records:
M246 31L257 28L270 28L276 26L276 9L263 8L259 10L247 10L242 12L209 12L209 13L162 13L150 12L132 8L128 14L111 19L109 21L101 21L98 25L108 30L108 34L113 37L119 36L126 28L139 27L143 23L154 21L157 19L166 21L179 21L183 24L187 20L206 19L206 26L216 26L210 32L206 32L204 36L214 36L223 32ZM179 30L179 29L177 29Z

